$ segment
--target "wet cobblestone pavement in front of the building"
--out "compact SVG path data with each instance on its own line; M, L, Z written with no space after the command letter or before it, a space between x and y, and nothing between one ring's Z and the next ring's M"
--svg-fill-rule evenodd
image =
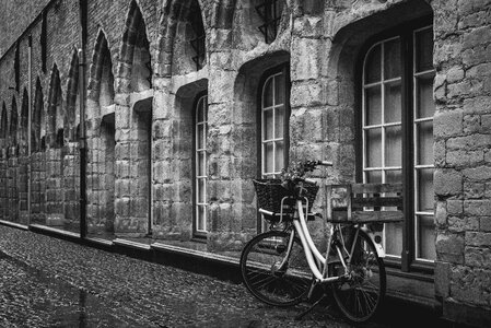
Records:
M0 225L0 327L350 327L243 285ZM372 324L371 327L378 327Z

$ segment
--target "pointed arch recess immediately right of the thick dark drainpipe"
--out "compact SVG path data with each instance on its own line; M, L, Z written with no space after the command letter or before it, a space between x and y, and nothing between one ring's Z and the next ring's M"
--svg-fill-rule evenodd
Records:
M98 106L114 103L113 60L104 31L100 31L92 56L89 98Z

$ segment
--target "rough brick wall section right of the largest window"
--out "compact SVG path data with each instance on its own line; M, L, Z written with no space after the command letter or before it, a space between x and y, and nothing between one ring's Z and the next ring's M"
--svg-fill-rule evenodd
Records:
M446 317L489 325L491 2L435 7L436 293Z

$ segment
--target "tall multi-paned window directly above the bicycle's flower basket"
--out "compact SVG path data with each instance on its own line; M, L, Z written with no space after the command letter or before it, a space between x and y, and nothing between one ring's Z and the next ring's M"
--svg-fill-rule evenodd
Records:
M288 165L287 68L266 74L261 85L261 176L274 177Z

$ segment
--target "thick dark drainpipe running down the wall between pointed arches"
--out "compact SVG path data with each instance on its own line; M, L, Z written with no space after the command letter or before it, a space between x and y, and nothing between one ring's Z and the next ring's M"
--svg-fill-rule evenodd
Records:
M85 43L87 33L86 0L79 0L80 49L79 49L79 94L80 94L80 237L86 237L86 133L85 133Z

